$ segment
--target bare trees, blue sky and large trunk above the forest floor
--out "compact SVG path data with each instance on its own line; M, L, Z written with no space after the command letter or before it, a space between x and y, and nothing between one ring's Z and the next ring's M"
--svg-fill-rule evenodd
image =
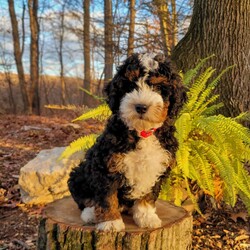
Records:
M184 72L215 54L224 114L249 110L249 1L1 0L1 112L93 106L133 52L163 52ZM192 18L191 18L192 17ZM190 25L189 25L190 24Z

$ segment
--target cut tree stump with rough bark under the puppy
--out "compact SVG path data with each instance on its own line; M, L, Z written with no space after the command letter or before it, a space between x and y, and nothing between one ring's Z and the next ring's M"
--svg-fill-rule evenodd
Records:
M122 215L126 229L101 232L94 226L83 226L81 211L71 197L55 201L44 209L40 220L38 249L69 250L184 250L191 249L192 216L183 208L158 200L157 214L162 227L138 228L132 216Z

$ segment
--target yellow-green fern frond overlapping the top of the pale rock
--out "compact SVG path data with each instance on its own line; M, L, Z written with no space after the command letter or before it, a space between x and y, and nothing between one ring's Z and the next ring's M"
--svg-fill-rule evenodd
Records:
M78 138L77 140L70 143L70 145L62 152L59 159L68 158L72 154L78 151L84 151L92 147L96 141L98 135L90 134L83 137Z

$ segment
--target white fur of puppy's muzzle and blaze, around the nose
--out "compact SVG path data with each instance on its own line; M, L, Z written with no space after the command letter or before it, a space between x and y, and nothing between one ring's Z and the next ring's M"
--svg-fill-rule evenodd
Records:
M123 97L120 105L121 118L129 129L137 131L160 127L164 121L162 118L164 102L161 95L144 83L143 78L138 80L137 86L138 89ZM144 114L136 111L138 104L147 107Z

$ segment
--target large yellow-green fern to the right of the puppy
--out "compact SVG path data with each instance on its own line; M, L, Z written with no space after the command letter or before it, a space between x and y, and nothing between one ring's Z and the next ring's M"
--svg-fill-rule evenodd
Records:
M215 72L212 67L196 77L197 69L206 61L205 58L198 67L183 76L184 83L190 87L189 99L175 123L179 149L177 164L172 171L175 176L182 176L182 180L195 181L200 189L215 199L218 199L218 187L214 183L219 180L223 200L234 206L239 196L250 212L250 175L242 164L250 161L250 131L238 123L249 121L250 114L243 113L235 118L216 115L223 104L216 103L219 96L213 95L213 90L222 75L233 66L223 70L209 83ZM176 179L168 181L167 192L163 185L162 197L167 197L175 189L180 192L179 185L183 188L184 184L191 200L196 202L189 182L176 182ZM180 197L178 193L177 203L180 203Z

